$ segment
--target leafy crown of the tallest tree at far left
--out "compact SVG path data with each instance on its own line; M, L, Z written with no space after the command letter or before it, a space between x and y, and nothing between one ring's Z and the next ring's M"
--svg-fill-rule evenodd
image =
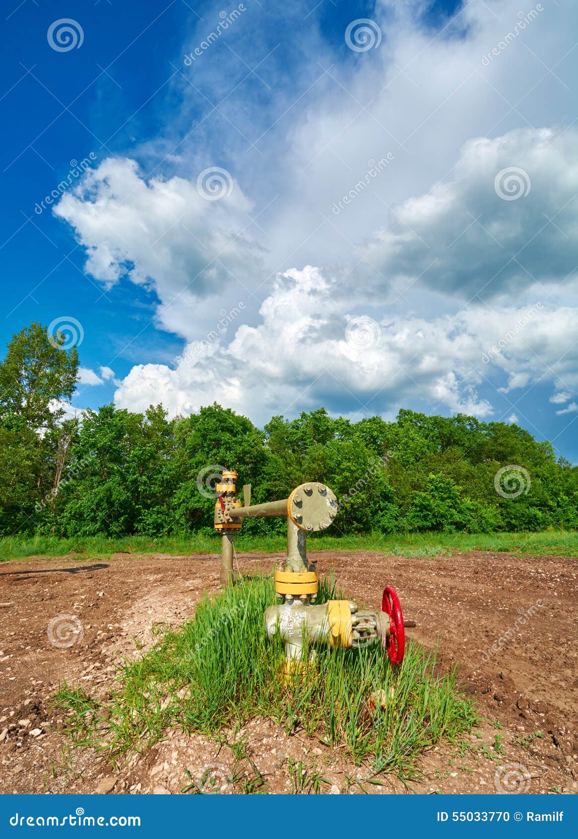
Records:
M78 380L76 347L64 343L60 332L49 336L34 321L12 336L0 362L0 415L22 417L33 430L54 427L64 415L56 404L70 401Z

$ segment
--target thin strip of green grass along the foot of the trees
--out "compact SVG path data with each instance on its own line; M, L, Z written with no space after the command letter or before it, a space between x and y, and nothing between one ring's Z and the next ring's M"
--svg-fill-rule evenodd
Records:
M235 539L237 552L253 553L284 551L284 534L251 535L241 532ZM578 533L575 530L547 530L543 533L493 534L382 534L331 536L308 539L309 550L376 550L400 556L432 556L461 553L468 550L508 551L513 554L578 556ZM151 539L147 536L127 536L107 539L104 536L58 539L55 536L18 536L0 539L0 561L25 559L29 556L65 556L80 554L82 560L106 559L112 554L159 553L187 555L216 554L220 550L215 534L190 534Z

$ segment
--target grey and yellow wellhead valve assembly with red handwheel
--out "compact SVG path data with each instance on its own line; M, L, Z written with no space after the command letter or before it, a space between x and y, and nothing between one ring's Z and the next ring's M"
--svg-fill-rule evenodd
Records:
M334 492L323 483L309 482L296 487L281 501L251 505L251 486L243 487L243 503L237 498L237 472L222 472L216 487L215 529L221 531L221 585L232 583L232 540L242 519L284 516L287 519L287 556L275 572L275 591L281 601L264 614L268 638L284 642L285 673L301 670L313 657L312 644L330 647L362 647L381 643L392 664L404 659L404 622L396 591L383 590L382 611L366 612L351 600L315 603L318 577L306 552L308 533L327 529L337 515Z

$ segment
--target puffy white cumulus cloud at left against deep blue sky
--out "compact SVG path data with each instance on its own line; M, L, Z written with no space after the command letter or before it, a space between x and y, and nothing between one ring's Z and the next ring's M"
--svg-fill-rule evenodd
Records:
M159 325L190 338L199 301L247 282L261 250L243 231L252 205L241 188L220 201L210 189L178 177L147 182L136 161L108 158L63 195L55 214L86 248L87 273L107 288L127 277L154 290Z

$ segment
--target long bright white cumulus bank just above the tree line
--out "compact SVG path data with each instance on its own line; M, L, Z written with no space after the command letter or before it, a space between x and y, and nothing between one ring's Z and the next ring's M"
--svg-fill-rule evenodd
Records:
M187 347L174 368L133 367L115 393L117 404L144 410L162 393L171 414L216 400L264 422L320 404L361 417L419 399L432 410L488 418L492 404L478 391L490 378L509 374L510 386L518 388L544 376L578 383L575 361L559 361L578 328L578 311L544 310L527 333L513 336L484 363L487 349L519 319L517 310L488 315L478 306L431 320L378 321L343 310L331 297L335 283L310 266L279 275L257 325L233 326L228 341ZM527 378L516 381L519 367Z

